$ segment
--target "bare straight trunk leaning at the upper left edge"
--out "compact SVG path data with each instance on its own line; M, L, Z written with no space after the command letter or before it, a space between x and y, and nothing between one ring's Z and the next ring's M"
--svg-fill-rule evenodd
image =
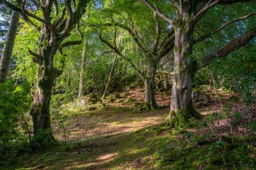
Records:
M3 53L0 60L0 83L4 83L8 75L8 68L12 58L12 50L19 26L20 14L16 11L12 12L12 18L7 32Z

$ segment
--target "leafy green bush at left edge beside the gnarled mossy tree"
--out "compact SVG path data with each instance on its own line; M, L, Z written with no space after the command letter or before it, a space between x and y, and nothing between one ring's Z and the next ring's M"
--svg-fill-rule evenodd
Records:
M17 147L22 148L28 142L31 129L28 110L32 103L29 92L26 82L17 84L7 80L0 83L0 159L17 152Z

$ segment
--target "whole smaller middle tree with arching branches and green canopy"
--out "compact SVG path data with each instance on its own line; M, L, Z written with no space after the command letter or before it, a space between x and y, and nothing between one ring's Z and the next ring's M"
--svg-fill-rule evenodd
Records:
M103 10L107 18L105 18L105 20L101 18L100 24L92 25L100 28L100 41L131 64L131 67L136 71L138 76L140 76L145 89L143 105L147 110L154 110L158 108L154 97L157 64L159 64L164 56L168 55L168 53L173 50L174 32L170 31L166 34L166 29L168 29L167 25L159 20L156 12L152 13L152 15L148 15L150 11L138 3L136 4L132 1L125 3L125 5L122 3L123 2L118 1L109 3L114 7L106 7L107 10ZM124 6L125 9L122 9ZM127 9L127 6L130 6L130 8ZM109 8L112 9L109 11ZM116 9L118 9L118 11ZM145 22L145 18L141 18L141 13L145 14L145 17L148 16L147 22ZM147 29L145 29L145 24L147 24ZM104 38L102 27L118 27L119 29L124 29L132 39L131 41L134 46L136 46L137 50L141 53L145 70L139 69L139 67L132 62L131 58L122 53L120 49L116 48L116 31L113 31L113 43L110 43L108 39ZM152 34L154 34L154 36L152 36Z

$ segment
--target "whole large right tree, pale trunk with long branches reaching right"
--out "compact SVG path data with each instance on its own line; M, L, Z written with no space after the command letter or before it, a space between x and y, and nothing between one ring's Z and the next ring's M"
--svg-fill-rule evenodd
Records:
M218 27L216 30L194 39L193 33L195 26L205 16L207 11L218 5L245 3L250 0L172 0L170 2L175 7L174 18L165 15L149 1L140 1L146 4L148 8L156 12L159 17L163 18L163 20L166 20L175 32L175 46L173 48L175 55L175 68L172 86L171 111L168 119L170 119L170 124L173 126L182 127L184 124L186 124L186 122L188 122L189 118L201 117L200 114L193 108L193 103L191 100L192 82L196 71L202 69L202 67L208 66L212 60L225 57L229 53L234 52L238 48L246 45L256 36L256 27L253 27L249 31L243 32L243 34L237 36L237 38L228 39L227 44L221 46L214 52L210 52L204 57L201 57L200 60L195 60L195 56L193 56L193 50L196 43L204 41L207 38L211 38L213 34L225 29L225 27L230 24L234 24L237 21L252 17L256 14L256 11L252 11L252 13L249 13L243 17L230 20Z

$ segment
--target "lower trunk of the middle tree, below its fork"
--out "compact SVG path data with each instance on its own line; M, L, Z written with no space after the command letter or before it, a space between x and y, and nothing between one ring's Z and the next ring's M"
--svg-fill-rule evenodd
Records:
M157 62L148 62L146 77L143 80L145 89L143 105L147 110L156 110L158 108L154 95L156 68Z

